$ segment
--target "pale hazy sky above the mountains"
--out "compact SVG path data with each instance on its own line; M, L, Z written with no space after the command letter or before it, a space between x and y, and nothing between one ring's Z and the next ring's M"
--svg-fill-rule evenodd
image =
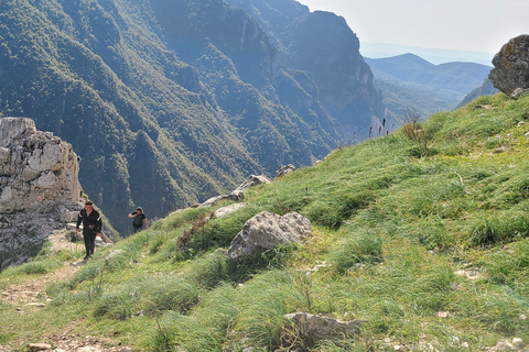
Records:
M529 34L529 0L298 0L331 11L366 43L497 53Z

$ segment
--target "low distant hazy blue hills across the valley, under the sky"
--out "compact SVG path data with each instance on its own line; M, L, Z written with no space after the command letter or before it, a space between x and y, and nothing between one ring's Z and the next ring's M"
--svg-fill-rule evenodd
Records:
M456 108L492 69L476 63L434 65L414 54L365 61L393 119L401 119L407 108L414 108L423 118Z

